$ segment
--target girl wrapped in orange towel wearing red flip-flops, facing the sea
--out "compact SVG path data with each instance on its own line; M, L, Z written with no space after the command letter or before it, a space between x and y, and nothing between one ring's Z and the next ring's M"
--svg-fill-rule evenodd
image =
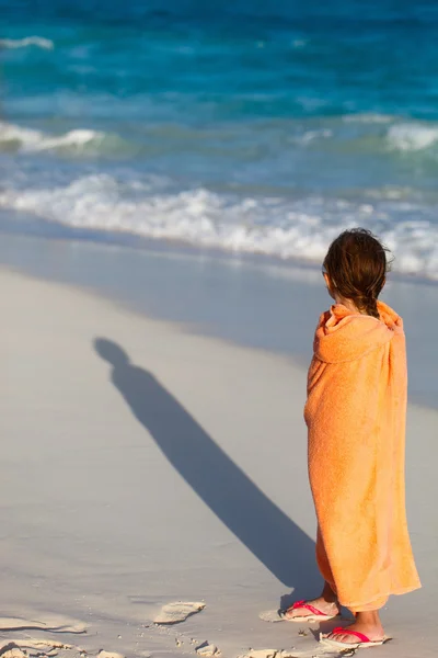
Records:
M344 605L355 623L322 639L358 648L383 644L379 609L390 594L420 587L405 513L405 339L402 318L378 302L387 257L372 234L336 238L323 275L335 304L316 328L304 418L325 586L284 615L323 621Z

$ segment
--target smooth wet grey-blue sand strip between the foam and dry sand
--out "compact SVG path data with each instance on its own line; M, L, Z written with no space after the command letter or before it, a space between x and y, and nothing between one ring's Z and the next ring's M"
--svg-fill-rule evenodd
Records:
M330 306L319 271L260 268L172 250L2 236L0 265L94 291L200 336L281 354L307 370L314 327ZM410 400L438 409L434 326L438 288L390 279L382 299L405 324ZM418 321L419 320L419 321Z

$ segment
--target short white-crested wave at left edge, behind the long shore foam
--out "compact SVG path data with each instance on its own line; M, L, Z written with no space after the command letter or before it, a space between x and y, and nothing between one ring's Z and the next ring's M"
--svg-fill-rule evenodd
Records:
M0 150L11 148L23 152L61 150L71 154L105 155L134 151L137 147L118 135L101 131L79 128L62 135L48 135L42 131L0 122Z

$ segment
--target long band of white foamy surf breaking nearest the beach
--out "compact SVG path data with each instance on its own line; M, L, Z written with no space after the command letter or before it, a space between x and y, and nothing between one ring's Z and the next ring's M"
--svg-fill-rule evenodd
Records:
M203 188L160 191L147 182L122 184L108 174L82 177L54 189L0 192L1 208L85 231L122 231L281 259L321 261L341 230L360 225L379 232L396 252L395 269L438 280L438 226L418 220L414 205L391 203L385 212L381 205L345 200L239 198Z

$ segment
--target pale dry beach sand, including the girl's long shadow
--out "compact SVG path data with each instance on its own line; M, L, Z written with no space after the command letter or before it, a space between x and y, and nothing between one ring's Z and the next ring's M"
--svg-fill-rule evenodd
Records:
M66 286L3 271L0 290L2 645L322 655L312 634L257 617L319 587L304 370ZM424 589L391 599L395 639L376 658L437 653L438 413L411 408L408 426ZM155 626L177 601L205 609Z

